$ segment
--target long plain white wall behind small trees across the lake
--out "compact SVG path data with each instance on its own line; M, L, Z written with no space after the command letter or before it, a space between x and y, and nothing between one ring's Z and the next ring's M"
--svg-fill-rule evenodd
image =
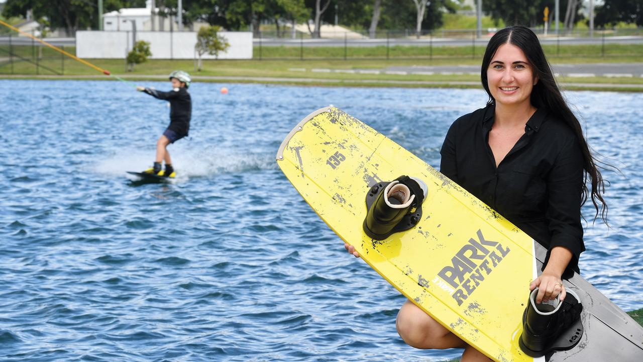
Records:
M252 59L251 32L220 32L230 43L219 59ZM132 49L132 32L76 32L76 55L80 58L123 59ZM196 32L136 32L136 41L150 43L151 59L194 59ZM203 59L215 59L204 54Z

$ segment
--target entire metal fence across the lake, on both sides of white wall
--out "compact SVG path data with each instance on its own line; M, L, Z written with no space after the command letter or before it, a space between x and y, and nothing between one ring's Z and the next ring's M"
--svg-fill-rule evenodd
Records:
M253 39L257 60L368 60L368 59L475 59L482 57L494 29L475 30L322 32L314 39L308 32L258 33ZM545 33L534 29L550 59L566 57L638 57L643 59L643 28L574 30ZM75 39L45 39L75 53ZM15 32L0 33L0 74L64 75L66 56ZM126 66L123 61L123 66Z

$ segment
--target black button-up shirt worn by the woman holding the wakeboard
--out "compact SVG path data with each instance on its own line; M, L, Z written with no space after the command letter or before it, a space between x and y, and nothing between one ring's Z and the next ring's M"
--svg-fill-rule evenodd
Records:
M556 246L572 251L567 271L579 272L578 257L585 250L584 175L574 131L540 108L496 167L489 146L494 111L495 106L487 106L453 122L440 150L440 172L549 251Z

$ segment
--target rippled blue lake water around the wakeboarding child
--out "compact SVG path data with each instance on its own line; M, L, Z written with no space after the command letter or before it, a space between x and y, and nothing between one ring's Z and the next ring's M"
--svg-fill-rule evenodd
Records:
M169 82L147 82L160 90ZM219 88L227 86L228 95ZM0 81L0 360L444 361L408 347L404 297L305 204L275 154L334 104L433 166L482 90L190 87L175 184L137 186L167 103L122 82ZM586 205L583 276L643 307L643 94L568 92L619 167L611 229Z

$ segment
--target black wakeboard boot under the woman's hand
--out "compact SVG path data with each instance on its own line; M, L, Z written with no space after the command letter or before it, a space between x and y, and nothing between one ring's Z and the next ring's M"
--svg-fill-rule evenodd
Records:
M541 357L554 350L569 350L581 340L583 305L574 291L566 291L564 301L556 297L544 303L536 303L538 288L529 294L523 313L523 331L518 339L520 349L528 356Z

